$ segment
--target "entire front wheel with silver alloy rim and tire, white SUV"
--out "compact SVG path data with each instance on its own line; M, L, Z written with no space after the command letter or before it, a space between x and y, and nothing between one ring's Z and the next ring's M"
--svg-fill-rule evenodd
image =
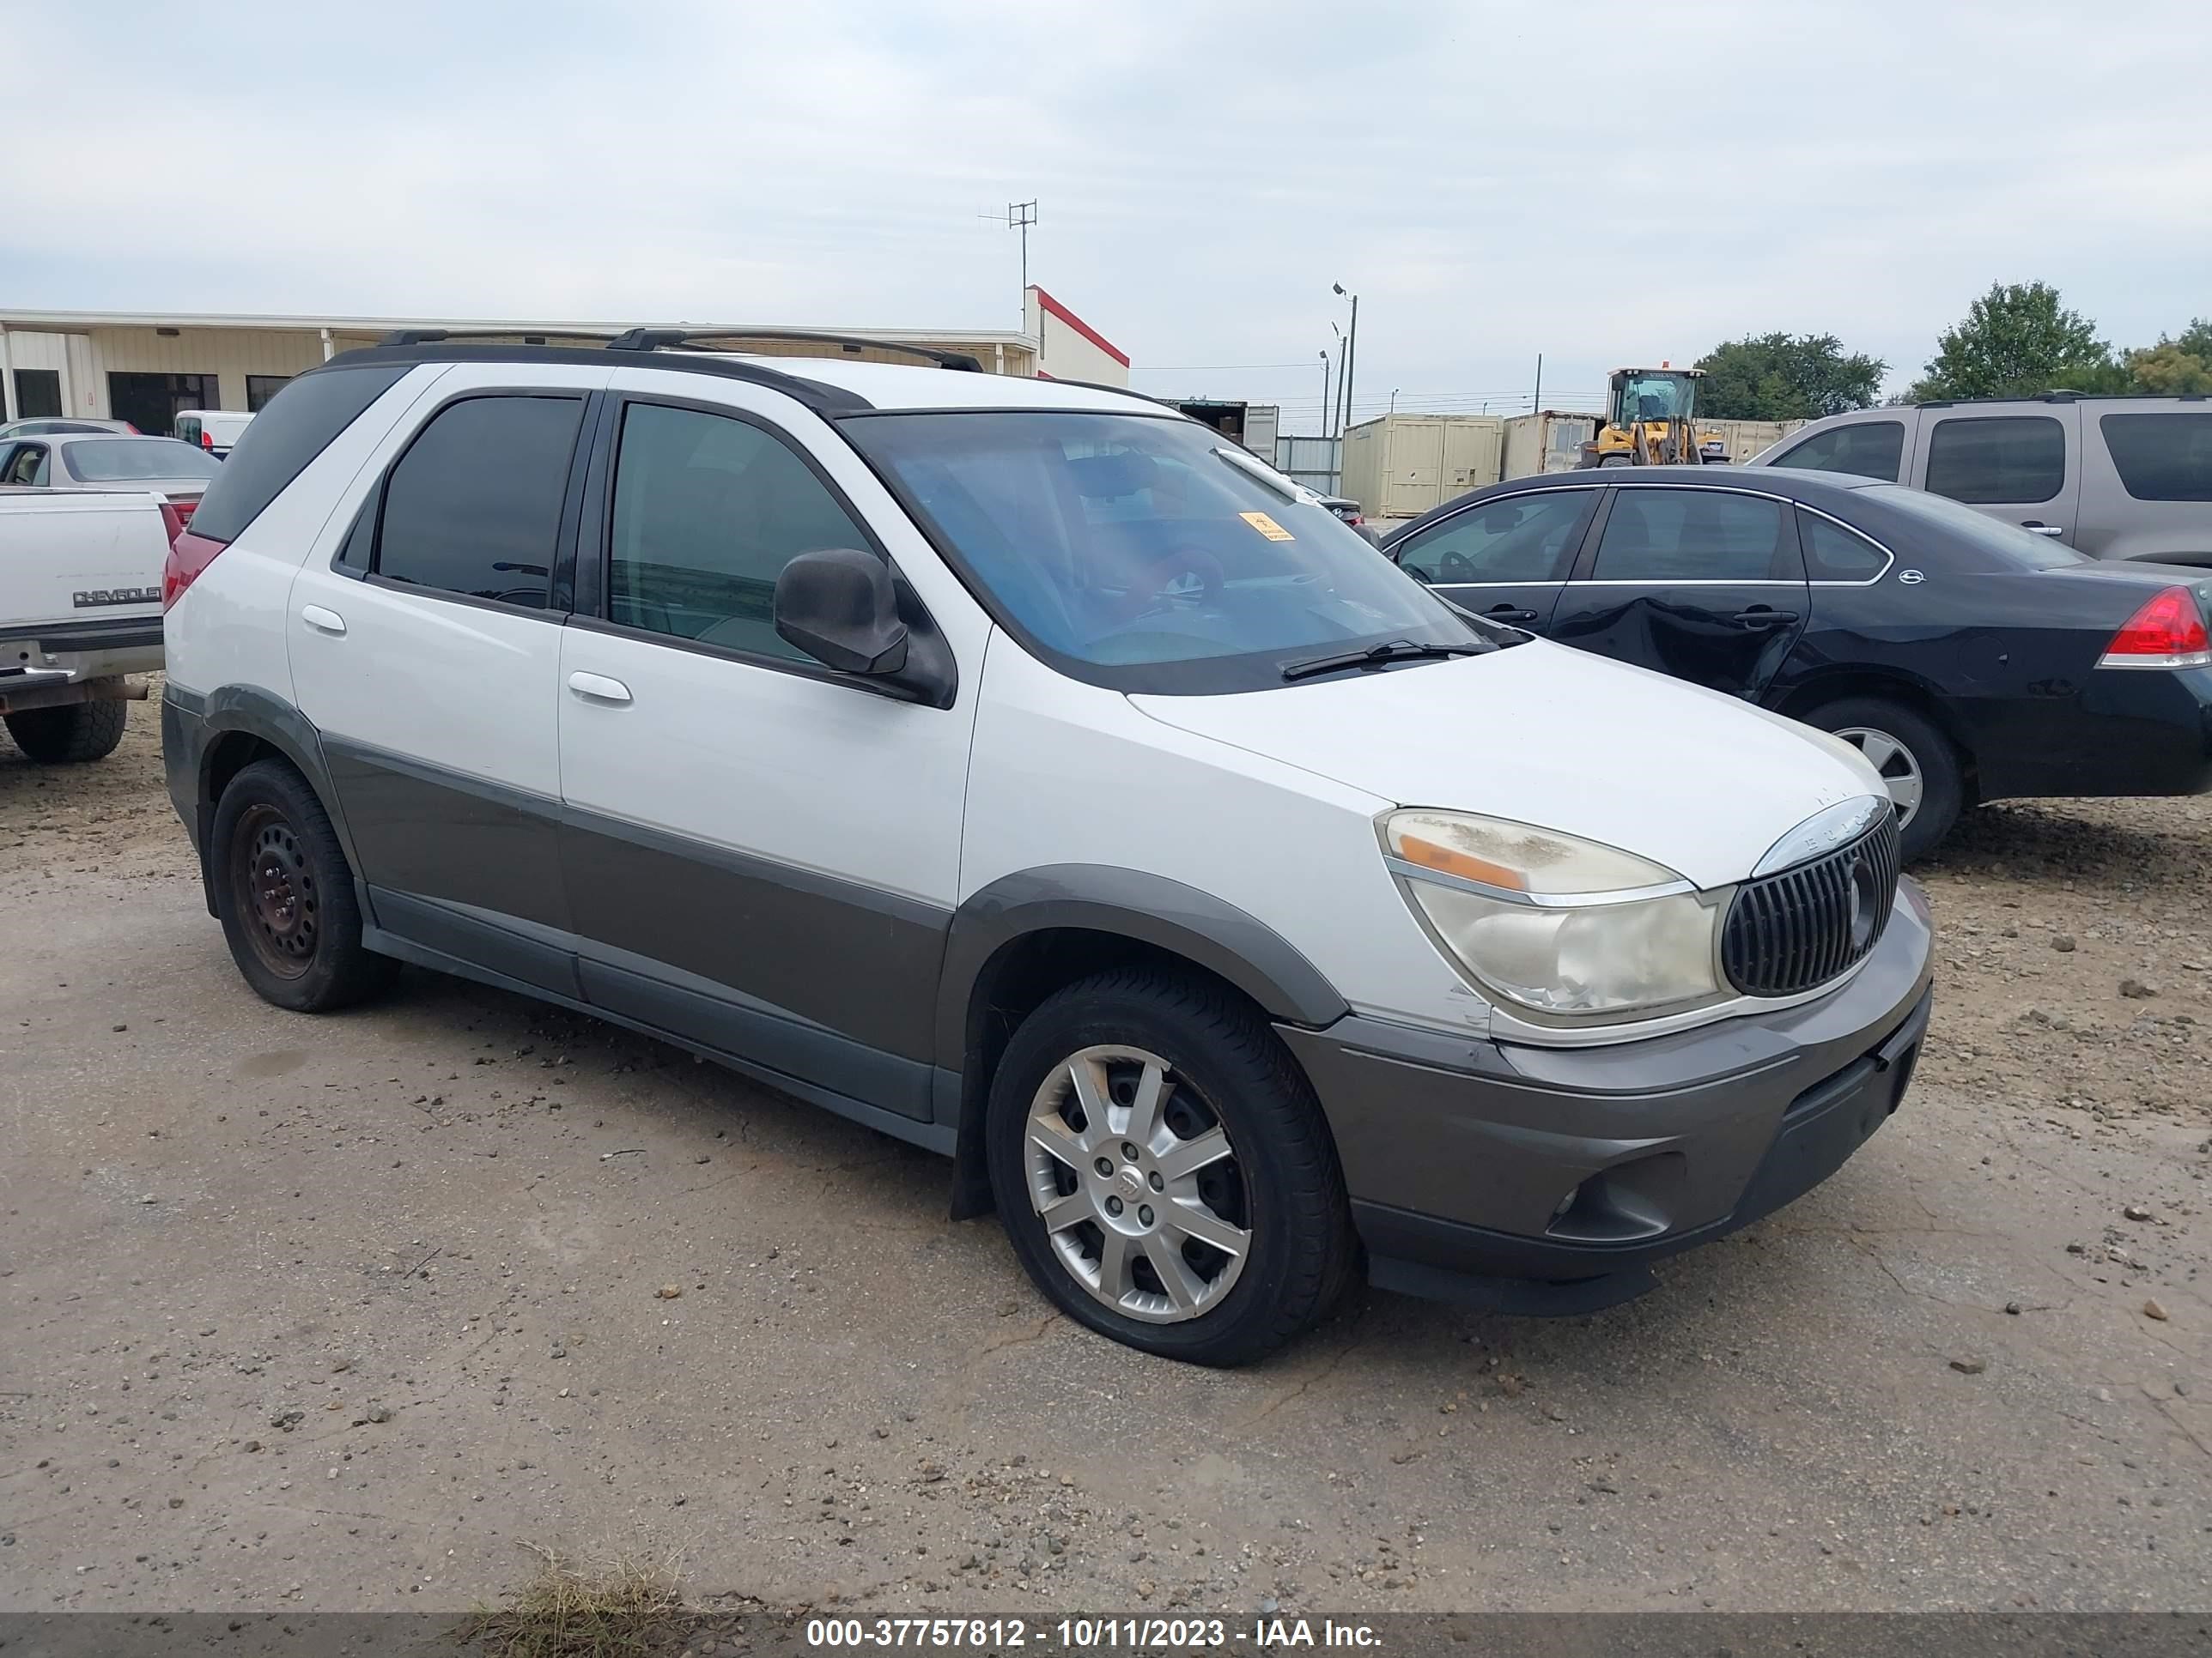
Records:
M1259 1008L1194 973L1046 997L993 1068L982 1152L1031 1282L1146 1353L1250 1364L1358 1267L1312 1083Z

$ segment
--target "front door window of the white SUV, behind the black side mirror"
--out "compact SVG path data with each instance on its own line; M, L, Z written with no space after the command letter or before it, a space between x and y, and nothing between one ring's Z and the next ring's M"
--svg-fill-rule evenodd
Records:
M745 420L633 402L615 460L608 621L807 661L776 634L783 566L869 550L814 471Z

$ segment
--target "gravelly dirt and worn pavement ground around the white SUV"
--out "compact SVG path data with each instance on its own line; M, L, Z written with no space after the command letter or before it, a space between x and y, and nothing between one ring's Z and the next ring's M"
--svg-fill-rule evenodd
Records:
M0 1609L2205 1607L2212 802L1975 816L1834 1180L1641 1302L1048 1313L942 1163L409 973L257 1001L159 783L0 752Z

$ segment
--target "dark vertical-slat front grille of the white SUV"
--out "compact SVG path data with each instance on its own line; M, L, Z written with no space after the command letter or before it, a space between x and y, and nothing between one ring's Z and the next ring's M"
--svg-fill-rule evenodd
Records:
M1898 818L1849 847L1736 889L1721 928L1721 968L1754 997L1816 990L1880 942L1898 893Z

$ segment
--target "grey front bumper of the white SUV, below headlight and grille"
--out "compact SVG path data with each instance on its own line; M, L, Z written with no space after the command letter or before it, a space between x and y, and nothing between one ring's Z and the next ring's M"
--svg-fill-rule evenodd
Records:
M1812 1189L1905 1099L1931 1008L1927 902L1818 1001L1604 1048L1349 1015L1279 1026L1336 1136L1383 1289L1573 1313Z

